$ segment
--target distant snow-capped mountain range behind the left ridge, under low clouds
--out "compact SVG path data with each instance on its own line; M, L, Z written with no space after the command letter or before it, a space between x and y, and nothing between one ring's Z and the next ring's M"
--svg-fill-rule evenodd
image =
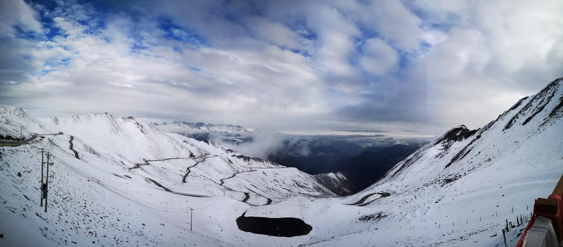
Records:
M208 123L151 123L158 129L178 133L198 141L217 140L230 143L252 141L257 129L246 129L240 125Z

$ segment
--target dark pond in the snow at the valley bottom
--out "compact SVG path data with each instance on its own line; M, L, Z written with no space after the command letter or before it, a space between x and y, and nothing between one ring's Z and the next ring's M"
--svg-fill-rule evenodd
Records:
M240 215L236 218L239 229L245 232L252 232L263 235L278 237L294 237L307 235L313 229L309 224L298 218L266 218L266 217L246 217Z

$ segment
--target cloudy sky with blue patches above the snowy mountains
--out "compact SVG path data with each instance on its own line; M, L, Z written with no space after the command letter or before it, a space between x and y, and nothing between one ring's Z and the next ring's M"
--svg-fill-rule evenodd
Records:
M562 13L559 0L0 0L0 105L294 133L475 129L563 77Z

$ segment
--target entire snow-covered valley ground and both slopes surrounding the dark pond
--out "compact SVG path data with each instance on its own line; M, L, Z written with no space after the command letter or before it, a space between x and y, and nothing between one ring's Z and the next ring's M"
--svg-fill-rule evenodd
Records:
M0 220L9 222L0 225L0 245L495 246L505 220L529 214L563 173L561 79L479 130L453 128L343 198L318 177L134 118L0 113L3 133L17 134L19 124L28 133L63 132L0 149ZM40 147L56 156L48 213L34 188ZM338 186L338 177L323 179ZM196 209L193 232L189 207ZM299 218L312 230L296 237L243 232L235 222L243 213Z

